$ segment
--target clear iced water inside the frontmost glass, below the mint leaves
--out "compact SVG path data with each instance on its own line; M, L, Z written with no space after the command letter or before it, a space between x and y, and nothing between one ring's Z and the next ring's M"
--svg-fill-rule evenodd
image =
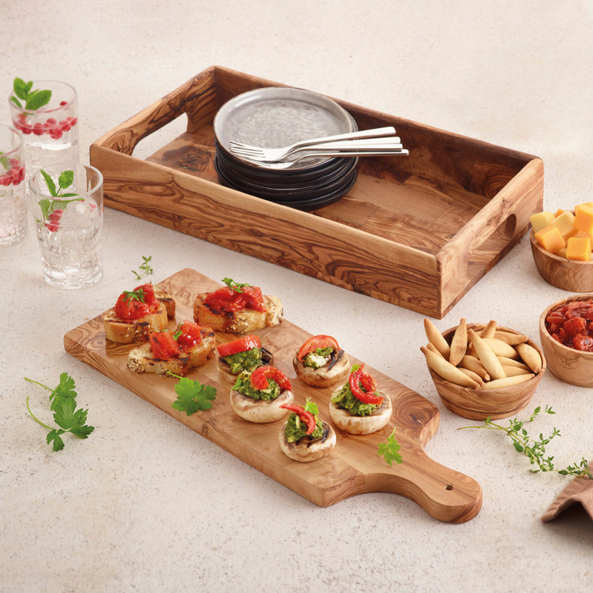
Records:
M92 198L63 208L57 225L36 219L43 272L49 284L84 288L101 278L102 216Z

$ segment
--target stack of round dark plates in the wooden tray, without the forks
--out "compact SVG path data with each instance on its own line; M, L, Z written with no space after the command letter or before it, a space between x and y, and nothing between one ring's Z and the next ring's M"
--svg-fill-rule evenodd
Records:
M358 128L335 101L297 88L265 87L227 101L214 119L215 167L232 189L299 210L337 202L356 181L356 157L307 157L288 168L243 160L231 140L280 148L303 139L355 132Z

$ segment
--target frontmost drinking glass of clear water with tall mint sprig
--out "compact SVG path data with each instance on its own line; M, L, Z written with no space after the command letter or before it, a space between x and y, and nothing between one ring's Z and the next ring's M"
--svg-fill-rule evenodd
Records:
M63 162L29 180L43 275L58 288L84 288L103 268L103 176L89 165Z

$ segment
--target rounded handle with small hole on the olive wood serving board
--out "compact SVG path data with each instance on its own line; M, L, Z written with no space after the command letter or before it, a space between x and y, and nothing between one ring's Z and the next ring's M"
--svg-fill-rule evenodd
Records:
M463 523L476 517L482 508L482 487L476 480L442 466L422 449L404 453L397 473L375 474L368 478L368 492L393 492L406 496L440 521Z

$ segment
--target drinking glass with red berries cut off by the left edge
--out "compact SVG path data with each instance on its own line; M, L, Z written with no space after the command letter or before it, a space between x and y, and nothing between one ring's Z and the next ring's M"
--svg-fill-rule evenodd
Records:
M0 246L18 243L26 233L23 136L0 125Z

